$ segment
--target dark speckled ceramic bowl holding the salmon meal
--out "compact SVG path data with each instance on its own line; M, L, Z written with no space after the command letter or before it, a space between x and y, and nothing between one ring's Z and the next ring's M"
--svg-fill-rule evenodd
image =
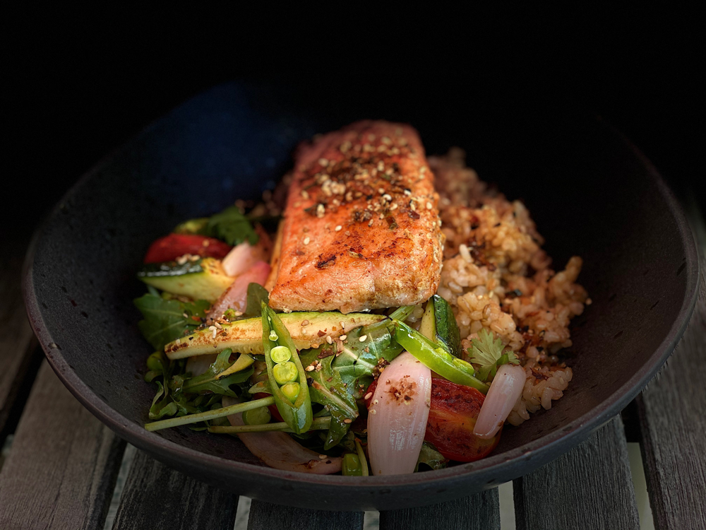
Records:
M66 387L119 436L184 473L270 502L425 505L517 478L568 451L621 411L674 350L695 303L695 243L662 178L609 126L371 98L332 113L314 99L214 88L98 164L35 235L24 278L32 326ZM462 146L481 178L525 200L558 268L573 254L584 259L580 283L593 304L571 325L575 378L566 395L505 429L490 457L406 476L286 473L232 437L144 430L155 390L143 382L150 346L132 300L144 292L135 271L145 249L180 220L257 198L291 165L298 141L363 117L410 122L429 153Z

